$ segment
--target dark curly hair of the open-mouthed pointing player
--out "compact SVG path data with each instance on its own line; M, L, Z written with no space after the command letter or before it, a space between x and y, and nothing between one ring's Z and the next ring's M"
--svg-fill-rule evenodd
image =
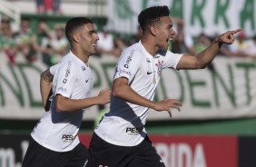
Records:
M153 6L144 9L138 16L138 22L143 30L145 30L149 25L153 25L160 22L160 17L169 16L170 11L166 5L163 6Z

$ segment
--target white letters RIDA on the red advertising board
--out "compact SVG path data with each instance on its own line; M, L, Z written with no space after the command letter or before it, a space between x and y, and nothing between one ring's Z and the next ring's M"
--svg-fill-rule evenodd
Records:
M207 167L202 143L196 143L194 152L188 143L157 142L155 149L166 167Z

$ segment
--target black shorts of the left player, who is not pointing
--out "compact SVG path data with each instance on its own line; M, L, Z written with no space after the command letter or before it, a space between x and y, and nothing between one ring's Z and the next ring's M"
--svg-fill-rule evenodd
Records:
M54 152L33 139L29 143L22 167L89 167L91 156L80 142L69 152Z

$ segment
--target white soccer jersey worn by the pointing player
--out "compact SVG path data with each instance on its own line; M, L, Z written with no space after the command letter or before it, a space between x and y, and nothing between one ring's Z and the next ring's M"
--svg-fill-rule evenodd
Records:
M141 42L133 44L120 56L113 80L127 78L128 84L136 93L153 101L162 69L176 69L181 57L182 54L172 54L170 51L162 51L153 57ZM146 136L144 124L147 114L147 107L112 96L110 112L104 115L94 132L104 141L115 145L137 145Z

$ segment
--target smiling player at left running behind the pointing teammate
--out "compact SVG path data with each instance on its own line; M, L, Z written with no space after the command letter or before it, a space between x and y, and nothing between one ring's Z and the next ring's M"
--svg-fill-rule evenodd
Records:
M91 166L90 153L77 133L84 109L109 103L111 91L106 88L90 97L94 82L88 59L96 53L99 40L93 21L85 17L71 18L66 23L65 34L71 51L42 74L49 82L53 79L53 94L50 107L45 107L46 112L31 133L23 167ZM45 94L42 94L44 106Z

